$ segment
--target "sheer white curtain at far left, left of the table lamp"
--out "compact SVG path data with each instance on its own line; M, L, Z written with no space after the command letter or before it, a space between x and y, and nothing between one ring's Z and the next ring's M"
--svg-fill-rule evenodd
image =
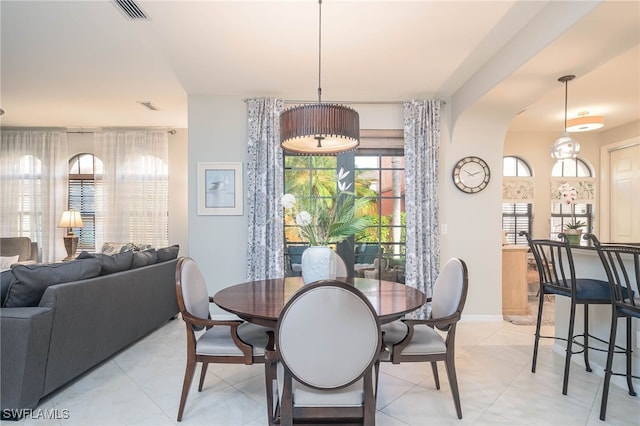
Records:
M2 131L0 235L37 242L43 262L66 256L58 228L67 209L69 158L64 131Z

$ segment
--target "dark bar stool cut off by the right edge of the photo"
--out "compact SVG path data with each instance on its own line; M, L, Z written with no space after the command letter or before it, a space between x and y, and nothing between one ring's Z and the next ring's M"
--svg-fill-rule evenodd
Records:
M600 404L600 420L605 420L607 414L607 401L609 399L609 385L611 376L624 376L627 378L629 395L636 396L633 388L634 376L632 371L632 336L631 319L640 318L640 304L635 300L640 291L640 246L624 244L601 244L593 234L586 234L585 239L591 240L598 251L602 266L607 274L611 286L611 331L609 334L609 348L607 351L607 363L604 369L604 385L602 387L602 401ZM633 274L627 270L623 256L629 256L633 261ZM618 331L618 319L624 318L626 322L625 347L615 344ZM613 357L616 353L624 353L626 356L626 371L618 373L613 371Z

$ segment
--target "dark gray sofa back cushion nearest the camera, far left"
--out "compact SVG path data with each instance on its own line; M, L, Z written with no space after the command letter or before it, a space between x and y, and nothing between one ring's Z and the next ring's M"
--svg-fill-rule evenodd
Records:
M101 269L100 259L16 266L12 271L17 280L10 285L4 306L38 306L48 286L97 277Z

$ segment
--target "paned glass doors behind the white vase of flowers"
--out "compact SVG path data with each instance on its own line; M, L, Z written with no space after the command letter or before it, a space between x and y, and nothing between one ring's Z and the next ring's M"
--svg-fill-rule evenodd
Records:
M366 260L373 268L373 259L382 255L389 260L389 267L404 270L405 256L405 203L404 203L404 152L401 148L360 148L357 152L338 156L298 156L285 152L284 191L296 198L314 197L331 205L337 194L336 175L342 167L354 176L357 197L375 200L370 211L373 224L352 240L339 244L336 251L348 267L362 266ZM285 253L294 246L304 245L292 218L285 217ZM366 255L365 249L366 248ZM374 249L372 251L372 249ZM291 253L296 252L292 250ZM373 255L371 253L374 253ZM296 263L286 259L286 263ZM404 274L399 274L398 280ZM356 271L356 276L359 276Z

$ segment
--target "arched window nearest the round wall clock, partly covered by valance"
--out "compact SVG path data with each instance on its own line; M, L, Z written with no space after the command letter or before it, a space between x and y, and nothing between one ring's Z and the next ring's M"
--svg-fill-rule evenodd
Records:
M505 156L502 159L502 176L532 176L529 165L519 157ZM518 234L526 231L531 235L533 206L531 203L502 203L502 230L509 244L527 244Z

